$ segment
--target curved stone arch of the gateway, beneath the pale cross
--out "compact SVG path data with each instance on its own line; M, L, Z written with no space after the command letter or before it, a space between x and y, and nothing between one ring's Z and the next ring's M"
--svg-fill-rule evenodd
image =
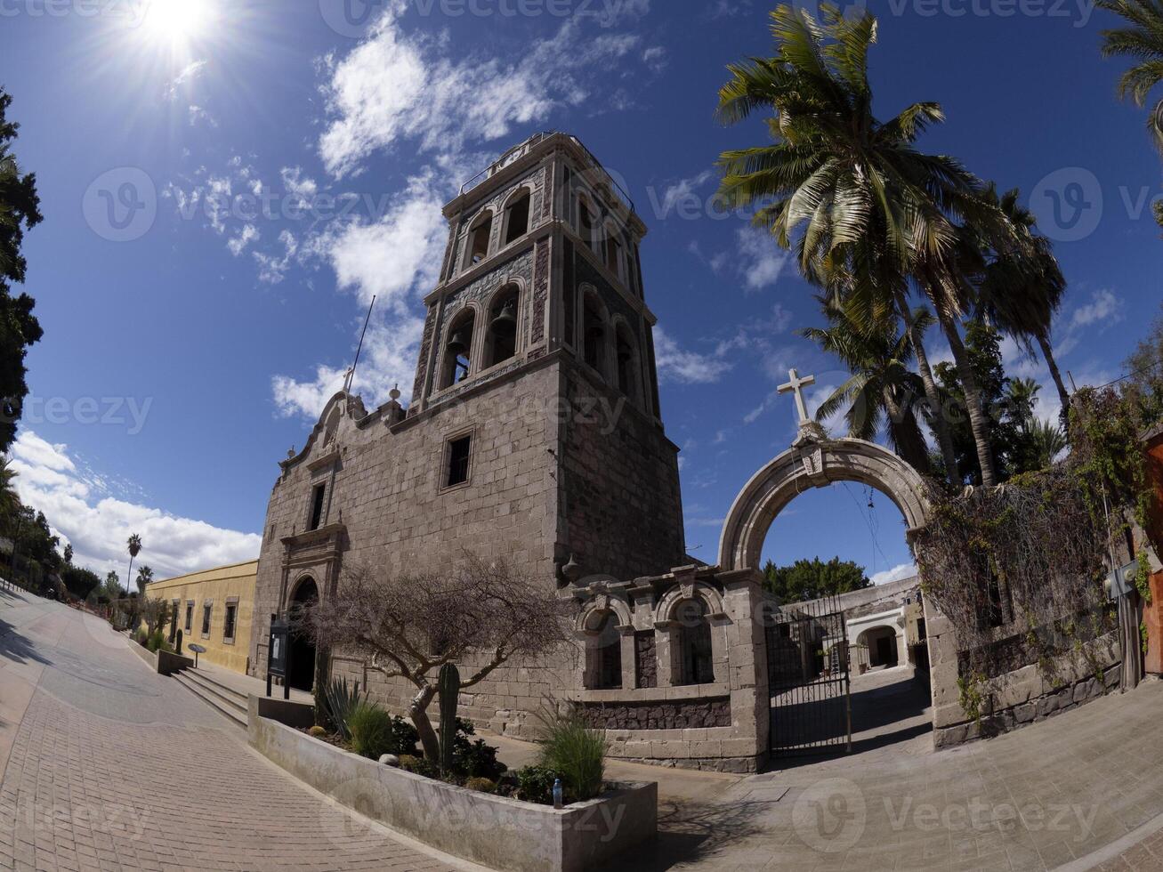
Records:
M920 473L885 448L863 439L809 441L784 451L743 486L719 539L719 567L756 569L772 522L795 496L833 481L857 481L883 492L907 524L906 535L925 526L929 503Z

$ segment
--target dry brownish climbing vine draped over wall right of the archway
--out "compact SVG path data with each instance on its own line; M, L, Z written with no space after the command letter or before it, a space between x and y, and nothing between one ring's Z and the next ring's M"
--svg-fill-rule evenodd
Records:
M1063 655L1103 677L1092 643L1116 623L1103 585L1112 545L1132 520L1146 529L1151 507L1142 408L1133 392L1079 391L1065 459L994 488L934 487L913 546L923 591L958 639L968 716L980 716L996 679L1029 663L1053 686ZM1141 544L1135 584L1149 596Z

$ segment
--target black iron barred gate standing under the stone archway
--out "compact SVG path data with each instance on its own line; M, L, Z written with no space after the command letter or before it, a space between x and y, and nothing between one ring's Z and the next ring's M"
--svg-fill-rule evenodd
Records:
M773 753L851 750L849 650L835 596L783 606L768 622Z

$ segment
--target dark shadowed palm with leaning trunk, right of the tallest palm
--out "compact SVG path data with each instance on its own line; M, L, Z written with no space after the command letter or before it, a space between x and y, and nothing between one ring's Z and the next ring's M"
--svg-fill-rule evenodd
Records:
M999 330L1033 353L1030 339L1037 342L1050 370L1050 377L1062 401L1063 420L1070 408L1070 392L1062 380L1058 364L1050 345L1050 327L1062 306L1066 280L1054 257L1050 241L1037 233L1034 215L1023 208L1018 188L998 196L993 183L984 196L1001 210L1015 233L1027 240L1028 256L1007 257L992 252L975 301L976 314L992 322Z

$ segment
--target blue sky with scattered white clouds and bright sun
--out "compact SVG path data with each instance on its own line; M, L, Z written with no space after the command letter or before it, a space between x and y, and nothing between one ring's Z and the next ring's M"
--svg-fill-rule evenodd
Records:
M411 387L441 205L537 130L579 136L650 228L693 555L714 560L735 493L793 437L773 394L787 369L818 393L843 377L794 334L819 322L794 269L713 208L715 157L764 133L713 109L725 65L769 52L768 3L45 3L0 0L0 81L45 214L26 244L45 337L14 456L23 498L94 569L123 566L130 531L158 576L256 555L276 463L342 379L371 295L369 407ZM1163 298L1163 187L1143 112L1115 99L1120 63L1099 57L1111 20L1089 0L871 8L878 114L940 101L923 146L1021 187L1070 281L1061 365L1116 377ZM766 551L909 563L899 513L856 485L797 499Z

